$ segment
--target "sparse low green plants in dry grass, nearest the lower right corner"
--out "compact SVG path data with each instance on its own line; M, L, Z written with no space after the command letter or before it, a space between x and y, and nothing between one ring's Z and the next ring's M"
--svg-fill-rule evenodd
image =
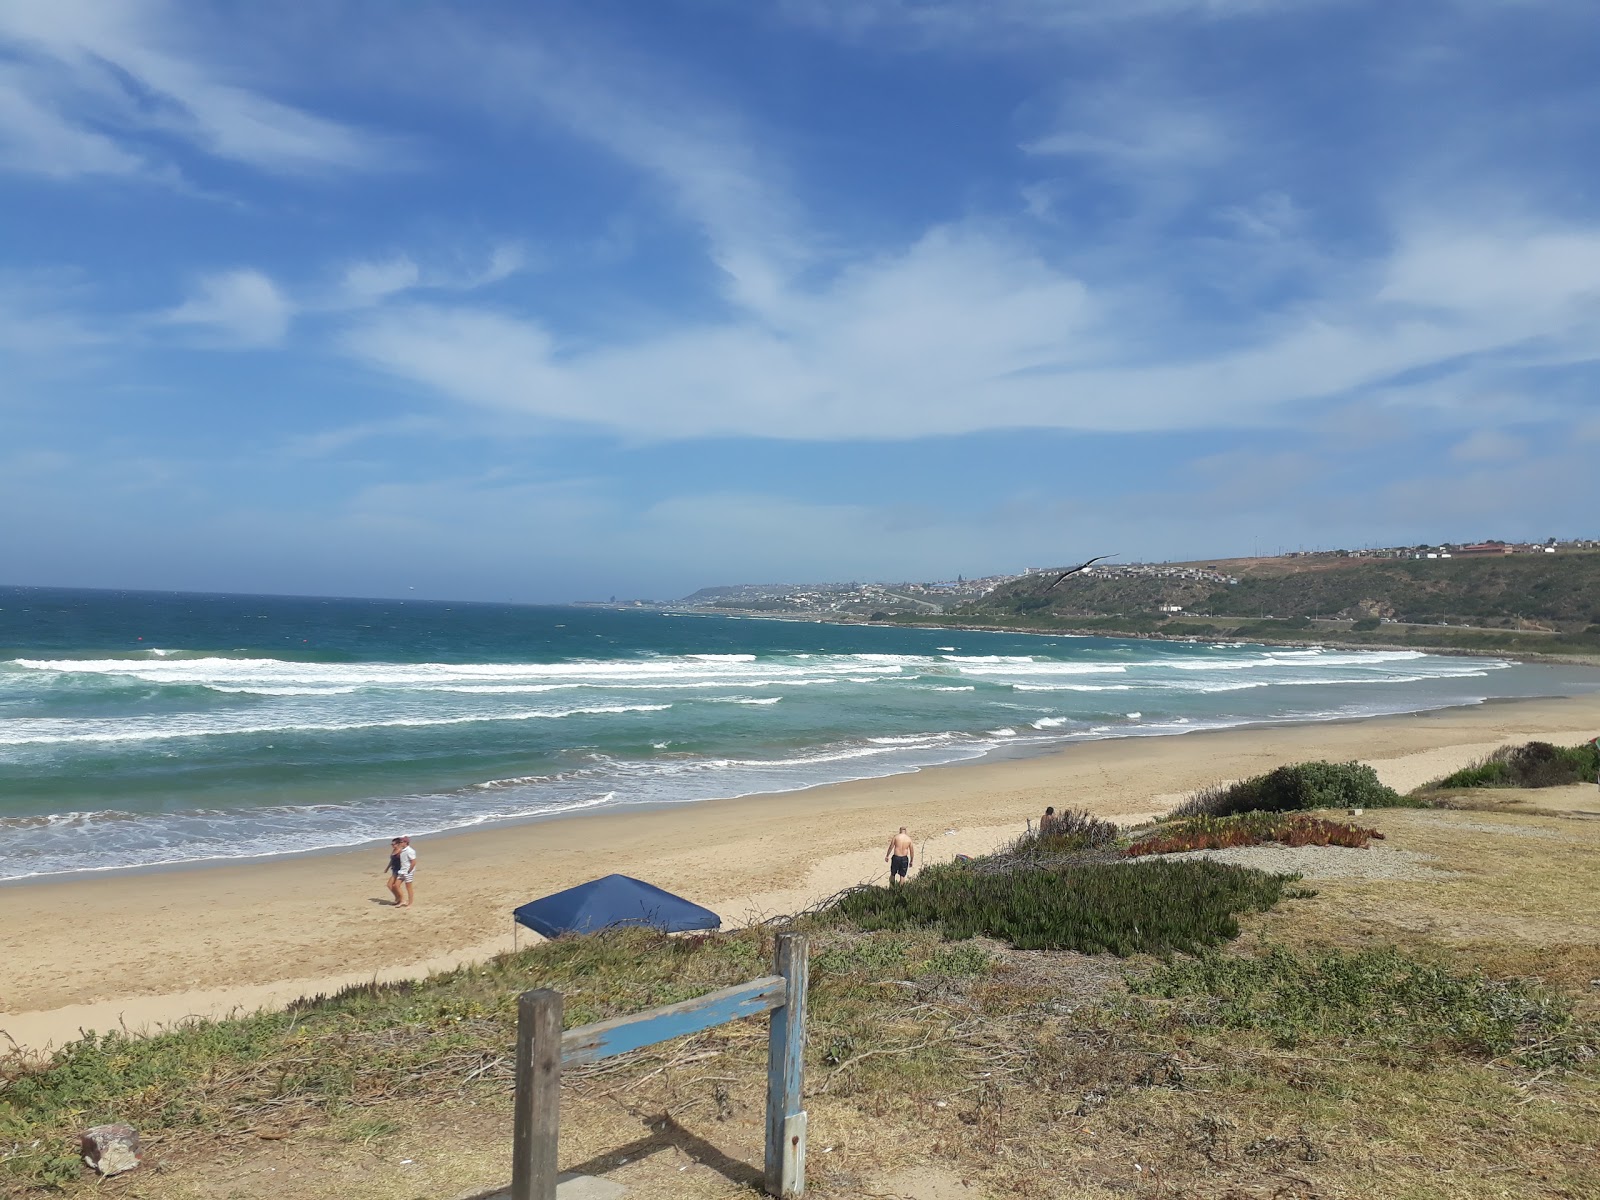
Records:
M1138 995L1181 1002L1184 1024L1259 1029L1280 1046L1334 1045L1382 1056L1515 1056L1539 1069L1571 1066L1594 1050L1595 1029L1571 1003L1523 981L1454 974L1394 947L1293 950L1256 957L1206 952L1130 984Z

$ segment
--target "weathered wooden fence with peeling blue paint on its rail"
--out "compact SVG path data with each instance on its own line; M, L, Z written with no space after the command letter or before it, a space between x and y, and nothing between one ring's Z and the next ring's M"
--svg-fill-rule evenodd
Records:
M805 1195L805 990L806 939L778 934L773 974L720 992L597 1021L562 1032L562 994L549 987L517 998L517 1107L512 1141L512 1200L555 1200L562 1069L699 1034L768 1013L766 1157L768 1195Z

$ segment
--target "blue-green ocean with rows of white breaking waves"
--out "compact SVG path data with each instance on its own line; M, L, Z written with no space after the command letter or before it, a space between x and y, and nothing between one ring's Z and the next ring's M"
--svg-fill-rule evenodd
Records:
M0 878L1597 688L1414 651L0 587Z

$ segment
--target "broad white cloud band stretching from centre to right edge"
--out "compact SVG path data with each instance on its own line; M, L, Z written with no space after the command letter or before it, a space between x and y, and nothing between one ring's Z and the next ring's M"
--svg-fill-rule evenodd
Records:
M1307 406L1362 389L1387 386L1389 403L1403 403L1408 373L1600 354L1581 272L1541 269L1541 237L1506 234L1490 253L1491 238L1474 235L1459 258L1448 240L1406 243L1358 272L1362 286L1184 354L1163 354L1158 330L1139 325L1160 296L1146 306L1138 290L1090 286L974 229L934 230L826 286L784 291L760 320L608 349L566 347L512 314L437 306L390 307L344 346L456 400L638 437L1298 424ZM1555 240L1578 262L1600 254L1600 230ZM1448 402L1448 389L1435 379L1426 397Z

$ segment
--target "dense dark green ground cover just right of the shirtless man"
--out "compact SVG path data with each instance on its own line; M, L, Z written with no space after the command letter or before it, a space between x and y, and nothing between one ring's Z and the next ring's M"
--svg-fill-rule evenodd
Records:
M846 893L862 930L987 936L1019 950L1171 954L1238 936L1237 914L1270 909L1285 877L1218 862L1067 864L1003 872L928 867L894 888Z

